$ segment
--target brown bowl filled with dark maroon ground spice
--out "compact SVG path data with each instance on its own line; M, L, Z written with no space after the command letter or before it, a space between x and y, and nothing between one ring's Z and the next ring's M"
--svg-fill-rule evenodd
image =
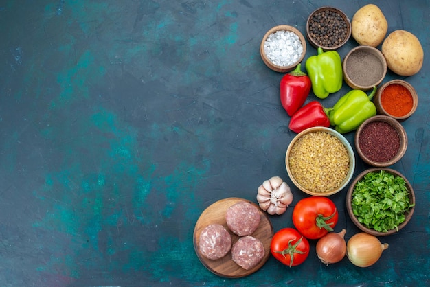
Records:
M403 157L407 149L407 135L396 119L375 115L357 128L354 143L365 163L383 168L394 165Z

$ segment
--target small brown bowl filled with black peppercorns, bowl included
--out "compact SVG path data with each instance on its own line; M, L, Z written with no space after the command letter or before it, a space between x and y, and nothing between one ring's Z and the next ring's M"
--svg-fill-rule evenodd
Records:
M306 22L306 38L316 49L337 50L351 36L351 21L341 10L324 6L312 12Z

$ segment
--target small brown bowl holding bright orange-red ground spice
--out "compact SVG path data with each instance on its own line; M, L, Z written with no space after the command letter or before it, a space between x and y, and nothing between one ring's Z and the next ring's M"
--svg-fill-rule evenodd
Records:
M378 88L373 102L379 115L388 115L403 122L415 113L418 95L409 82L391 80Z

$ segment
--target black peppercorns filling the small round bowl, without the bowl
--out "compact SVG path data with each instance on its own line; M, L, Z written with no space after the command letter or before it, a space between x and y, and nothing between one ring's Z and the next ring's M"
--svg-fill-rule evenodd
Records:
M322 47L335 47L345 41L348 25L343 17L331 10L317 12L309 21L310 38Z

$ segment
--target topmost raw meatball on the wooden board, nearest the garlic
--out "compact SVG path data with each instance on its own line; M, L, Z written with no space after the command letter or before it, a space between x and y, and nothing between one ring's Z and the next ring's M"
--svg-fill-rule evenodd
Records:
M260 212L251 203L236 203L227 209L225 220L231 232L250 236L260 225Z

